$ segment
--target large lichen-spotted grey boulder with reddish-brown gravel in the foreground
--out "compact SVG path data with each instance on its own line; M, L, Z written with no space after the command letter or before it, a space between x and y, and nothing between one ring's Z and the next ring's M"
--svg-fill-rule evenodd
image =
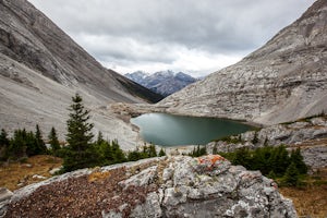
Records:
M218 155L77 170L17 190L0 207L0 217L296 217L274 181Z

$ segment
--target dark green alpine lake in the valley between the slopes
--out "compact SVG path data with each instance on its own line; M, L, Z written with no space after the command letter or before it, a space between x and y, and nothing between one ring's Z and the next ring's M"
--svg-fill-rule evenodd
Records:
M161 146L204 145L253 129L252 125L228 119L168 113L145 113L132 118L131 123L140 128L145 142Z

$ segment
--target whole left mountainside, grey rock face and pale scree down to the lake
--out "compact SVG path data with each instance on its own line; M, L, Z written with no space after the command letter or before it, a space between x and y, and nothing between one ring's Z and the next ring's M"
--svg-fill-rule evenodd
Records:
M158 95L101 66L28 1L2 0L0 14L0 128L32 130L38 123L49 131L53 125L62 137L66 108L80 93L95 131L125 145L135 142L132 128L105 106L157 101Z

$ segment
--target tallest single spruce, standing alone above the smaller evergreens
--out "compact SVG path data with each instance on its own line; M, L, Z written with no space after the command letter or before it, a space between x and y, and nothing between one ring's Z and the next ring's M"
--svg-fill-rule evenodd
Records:
M69 145L63 159L64 171L93 167L96 158L92 143L94 124L88 122L89 111L84 108L83 99L78 94L72 97L72 101L73 104L69 108L70 118L66 121L66 142Z

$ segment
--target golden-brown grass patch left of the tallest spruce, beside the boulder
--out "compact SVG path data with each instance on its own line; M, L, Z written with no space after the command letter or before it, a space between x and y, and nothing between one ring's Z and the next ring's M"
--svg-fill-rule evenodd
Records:
M27 184L39 182L41 179L33 178L34 174L50 178L49 170L61 165L61 158L47 155L31 157L24 164L2 164L0 166L0 186L14 191Z

